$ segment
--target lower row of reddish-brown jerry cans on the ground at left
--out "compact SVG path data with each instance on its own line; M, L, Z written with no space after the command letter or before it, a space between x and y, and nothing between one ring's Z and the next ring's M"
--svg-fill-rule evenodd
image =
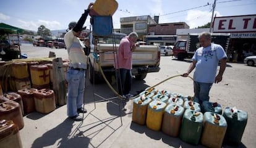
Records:
M54 92L50 89L22 89L0 96L0 120L12 120L19 129L24 126L24 114L49 113L55 109Z

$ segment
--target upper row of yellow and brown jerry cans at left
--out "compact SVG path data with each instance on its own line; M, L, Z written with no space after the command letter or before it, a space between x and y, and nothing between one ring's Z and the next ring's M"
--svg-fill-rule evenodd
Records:
M53 64L49 61L46 64L40 62L16 62L11 65L4 66L4 62L0 64L2 87L8 85L4 91L18 91L20 89L50 89L54 80ZM66 76L69 68L69 61L63 62L64 75ZM7 89L7 90L6 90Z

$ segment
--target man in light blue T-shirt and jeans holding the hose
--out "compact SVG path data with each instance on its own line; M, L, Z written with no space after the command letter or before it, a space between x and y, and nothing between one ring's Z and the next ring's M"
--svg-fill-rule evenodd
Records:
M203 32L198 38L202 47L195 51L192 63L182 76L188 76L195 68L194 101L202 104L203 101L209 101L209 92L213 83L219 83L222 80L226 68L227 55L223 47L219 44L211 43L210 33ZM216 75L219 62L220 70Z

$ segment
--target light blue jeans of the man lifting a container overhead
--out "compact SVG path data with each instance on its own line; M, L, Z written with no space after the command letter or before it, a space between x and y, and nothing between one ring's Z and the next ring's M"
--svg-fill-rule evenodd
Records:
M85 89L85 70L67 70L67 116L77 115L77 109L83 105Z

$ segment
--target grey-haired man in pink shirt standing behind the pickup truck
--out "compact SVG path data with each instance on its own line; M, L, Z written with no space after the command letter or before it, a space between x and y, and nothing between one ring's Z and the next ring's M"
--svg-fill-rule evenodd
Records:
M134 97L130 94L130 89L132 88L132 52L136 48L137 39L138 35L135 32L122 38L114 61L118 92L125 99Z

